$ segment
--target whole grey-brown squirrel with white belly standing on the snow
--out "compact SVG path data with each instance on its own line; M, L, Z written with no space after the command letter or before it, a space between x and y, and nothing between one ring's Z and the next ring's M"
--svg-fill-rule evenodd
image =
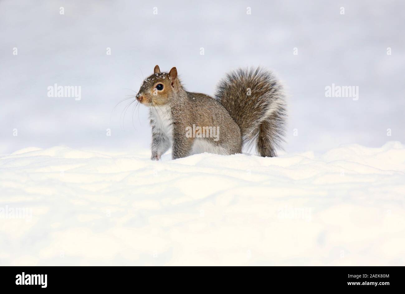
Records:
M152 160L171 146L172 159L178 159L242 153L247 143L260 156L275 157L284 141L286 95L275 75L261 68L231 71L213 98L185 90L175 67L166 73L156 65L135 97L149 107Z

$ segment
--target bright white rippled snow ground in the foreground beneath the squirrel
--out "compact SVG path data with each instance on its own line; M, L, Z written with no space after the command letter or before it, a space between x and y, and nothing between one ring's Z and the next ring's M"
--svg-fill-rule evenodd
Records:
M0 264L404 265L399 142L149 158L66 146L0 157Z

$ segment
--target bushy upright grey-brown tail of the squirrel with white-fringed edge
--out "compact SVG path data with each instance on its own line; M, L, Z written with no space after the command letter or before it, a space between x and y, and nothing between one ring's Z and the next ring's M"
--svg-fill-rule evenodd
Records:
M275 148L284 142L287 114L283 86L271 71L232 71L218 84L215 97L239 125L244 143L256 143L262 157L276 156Z

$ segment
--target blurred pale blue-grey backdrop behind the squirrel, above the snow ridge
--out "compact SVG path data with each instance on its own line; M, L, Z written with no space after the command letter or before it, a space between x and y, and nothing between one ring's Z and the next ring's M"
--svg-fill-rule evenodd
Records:
M148 148L147 108L123 117L130 101L117 103L156 64L210 95L231 69L274 70L289 95L286 152L404 143L404 35L399 0L3 0L0 154ZM81 86L81 100L48 97L54 84ZM358 86L358 100L325 97L332 84Z

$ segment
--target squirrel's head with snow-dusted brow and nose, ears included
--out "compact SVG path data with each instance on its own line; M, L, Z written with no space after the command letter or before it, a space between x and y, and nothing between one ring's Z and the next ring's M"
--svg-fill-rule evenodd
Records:
M175 67L169 73L161 73L159 66L156 65L153 75L143 81L136 100L147 106L165 105L180 88L181 84Z

